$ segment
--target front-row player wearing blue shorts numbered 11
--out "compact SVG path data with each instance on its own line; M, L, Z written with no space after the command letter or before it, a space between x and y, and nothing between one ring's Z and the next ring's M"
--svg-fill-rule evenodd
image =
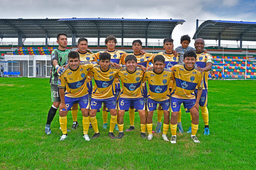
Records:
M169 141L166 134L169 128L170 120L170 91L169 83L172 80L173 72L166 69L165 59L162 55L154 57L154 68L145 72L142 82L148 81L148 102L147 102L147 129L148 140L152 135L152 117L157 104L161 104L164 112L163 139Z

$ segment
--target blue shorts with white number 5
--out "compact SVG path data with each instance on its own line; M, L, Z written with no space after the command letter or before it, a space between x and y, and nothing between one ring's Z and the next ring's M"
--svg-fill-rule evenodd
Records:
M178 99L175 97L171 97L171 112L179 112L180 105L183 103L185 109L191 109L195 103L196 99Z

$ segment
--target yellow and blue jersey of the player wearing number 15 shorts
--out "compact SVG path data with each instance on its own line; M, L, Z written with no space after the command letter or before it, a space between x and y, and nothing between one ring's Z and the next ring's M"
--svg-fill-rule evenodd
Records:
M120 69L109 66L107 71L102 71L98 65L90 70L89 75L95 80L92 98L107 99L115 96L115 78Z

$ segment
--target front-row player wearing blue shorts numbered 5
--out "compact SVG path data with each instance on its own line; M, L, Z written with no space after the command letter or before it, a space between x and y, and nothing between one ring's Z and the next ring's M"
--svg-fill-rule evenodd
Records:
M196 132L199 123L199 99L202 94L202 73L194 66L196 62L196 53L194 51L185 52L183 61L185 64L177 64L171 68L174 73L171 92L171 143L176 143L177 117L181 103L183 103L184 108L190 111L192 116L191 138L195 143L199 143ZM198 86L197 99L194 94L196 86Z

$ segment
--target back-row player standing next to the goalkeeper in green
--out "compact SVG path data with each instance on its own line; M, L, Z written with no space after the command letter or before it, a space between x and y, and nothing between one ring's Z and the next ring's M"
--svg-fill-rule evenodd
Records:
M78 53L79 53L79 57L80 57L80 61L97 61L97 59L95 58L93 52L88 49L88 41L86 38L79 38L78 39ZM92 77L88 76L87 79L87 88L88 88L88 94L89 94L89 99L91 98L92 95ZM77 122L77 113L78 113L78 103L74 104L72 107L72 118L73 118L73 125L71 129L76 129L78 127L78 122ZM91 124L89 126L89 128L92 128Z

